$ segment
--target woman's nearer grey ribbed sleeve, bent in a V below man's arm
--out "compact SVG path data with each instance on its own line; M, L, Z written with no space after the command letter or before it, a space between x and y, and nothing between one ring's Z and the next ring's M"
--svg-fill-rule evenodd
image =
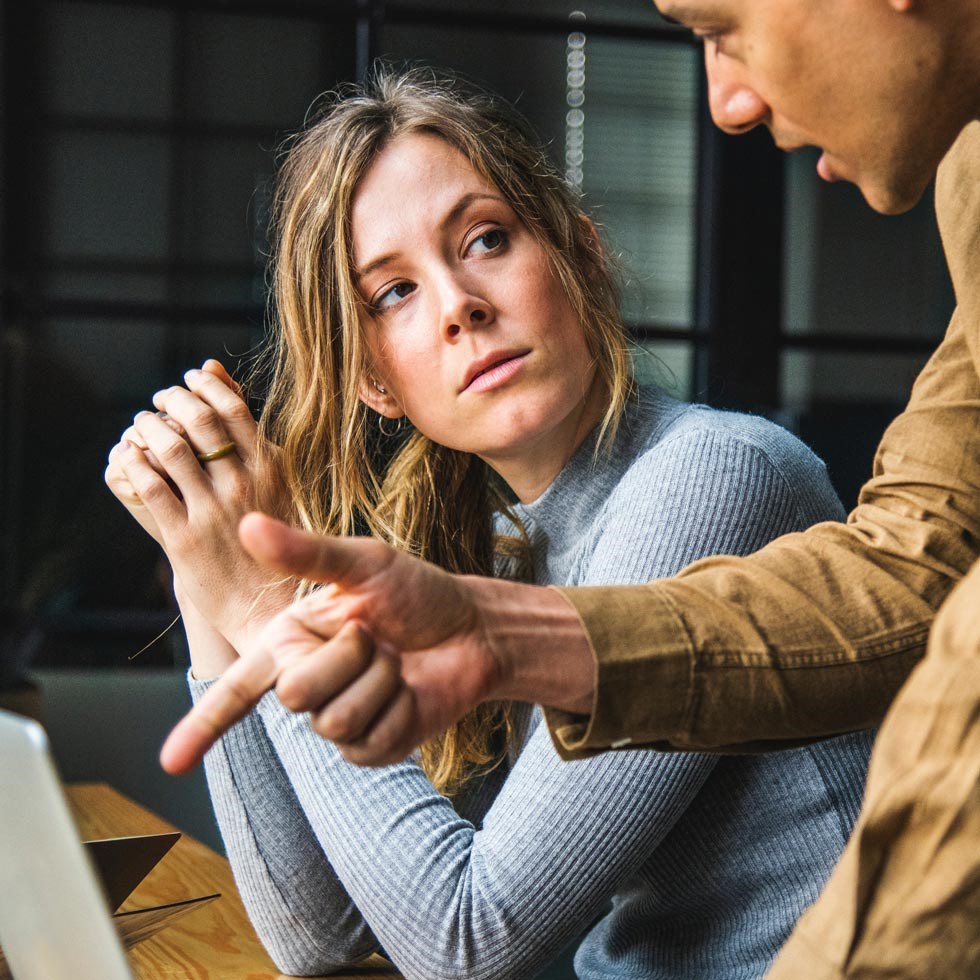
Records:
M408 980L536 976L714 764L636 752L569 765L538 725L478 826L417 765L353 766L305 718L263 715L326 860Z

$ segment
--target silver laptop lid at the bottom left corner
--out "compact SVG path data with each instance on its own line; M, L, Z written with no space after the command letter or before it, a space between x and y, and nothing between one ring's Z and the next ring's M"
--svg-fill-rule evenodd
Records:
M0 965L14 980L132 980L47 735L0 711Z

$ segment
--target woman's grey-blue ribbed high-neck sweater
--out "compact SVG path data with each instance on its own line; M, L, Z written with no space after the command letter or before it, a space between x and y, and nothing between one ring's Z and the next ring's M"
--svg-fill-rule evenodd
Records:
M820 461L758 418L644 389L611 453L593 449L520 508L540 582L646 581L843 517ZM455 803L412 761L348 764L274 695L225 736L208 783L279 969L382 949L409 978L532 977L601 916L581 977L763 976L843 847L870 734L566 763L537 710L523 721L510 766Z

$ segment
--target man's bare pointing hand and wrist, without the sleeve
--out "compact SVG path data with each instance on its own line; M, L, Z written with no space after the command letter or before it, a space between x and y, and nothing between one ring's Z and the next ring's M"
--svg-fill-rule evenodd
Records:
M262 564L325 587L240 650L168 738L168 772L196 765L273 688L366 765L404 758L482 701L591 708L588 639L552 589L451 575L371 538L319 537L259 514L240 534Z

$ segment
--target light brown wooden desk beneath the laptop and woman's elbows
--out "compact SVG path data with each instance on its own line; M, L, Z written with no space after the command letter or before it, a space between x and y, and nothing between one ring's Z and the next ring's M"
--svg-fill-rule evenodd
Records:
M69 786L68 802L83 839L177 830L102 783ZM186 834L127 899L124 909L162 905L221 892L129 952L138 980L281 980L262 948L235 887L228 862ZM331 974L333 980L397 978L385 960Z

